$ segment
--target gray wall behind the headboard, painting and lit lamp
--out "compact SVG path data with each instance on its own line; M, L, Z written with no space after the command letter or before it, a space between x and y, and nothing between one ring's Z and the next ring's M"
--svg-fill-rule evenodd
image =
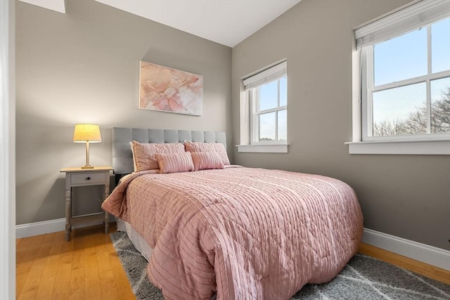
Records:
M90 148L96 166L112 163L113 126L231 136L231 48L93 0L66 0L65 14L16 6L17 224L64 217L59 171L85 162L84 144L72 143L76 123L101 126L103 141ZM139 110L139 60L202 74L203 117ZM101 200L101 188L77 188L76 214L98 211Z

